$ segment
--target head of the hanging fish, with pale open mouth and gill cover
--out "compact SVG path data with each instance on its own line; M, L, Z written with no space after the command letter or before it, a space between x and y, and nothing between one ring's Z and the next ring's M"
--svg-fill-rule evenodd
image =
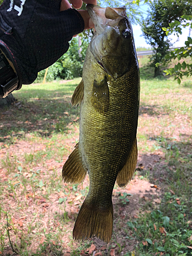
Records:
M90 50L98 65L116 79L129 71L133 58L137 59L126 8L101 8L88 4L87 10L95 25Z

